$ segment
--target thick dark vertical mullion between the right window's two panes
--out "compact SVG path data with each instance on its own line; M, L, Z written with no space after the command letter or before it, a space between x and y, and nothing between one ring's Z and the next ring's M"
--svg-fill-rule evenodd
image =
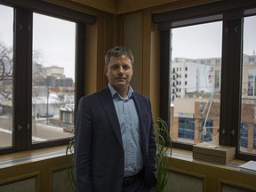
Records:
M240 122L241 19L223 22L220 144L235 146Z

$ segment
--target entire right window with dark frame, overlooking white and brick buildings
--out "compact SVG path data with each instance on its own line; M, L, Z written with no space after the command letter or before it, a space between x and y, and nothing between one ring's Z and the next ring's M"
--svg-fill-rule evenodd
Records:
M175 148L211 141L236 146L236 158L255 160L256 2L236 3L154 15L161 36L160 116L170 124ZM187 84L181 83L177 97L170 92L172 68L184 66L188 77L181 80ZM180 141L180 114L194 120L193 140Z

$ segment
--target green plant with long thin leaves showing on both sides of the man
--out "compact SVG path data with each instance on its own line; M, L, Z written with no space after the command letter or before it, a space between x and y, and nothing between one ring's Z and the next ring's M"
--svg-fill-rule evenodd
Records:
M164 120L157 117L155 119L155 132L156 132L156 178L157 185L153 189L153 192L163 192L168 180L168 172L166 169L167 159L166 153L171 147L172 154L172 140L169 136L168 125ZM68 167L68 191L76 191L76 180L74 174L74 147L75 137L73 136L66 148L66 157Z

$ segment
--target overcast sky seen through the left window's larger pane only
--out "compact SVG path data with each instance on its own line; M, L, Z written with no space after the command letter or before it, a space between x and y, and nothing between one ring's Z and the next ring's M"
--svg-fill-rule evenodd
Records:
M64 67L75 80L76 23L35 13L33 23L33 49L42 53L44 65Z

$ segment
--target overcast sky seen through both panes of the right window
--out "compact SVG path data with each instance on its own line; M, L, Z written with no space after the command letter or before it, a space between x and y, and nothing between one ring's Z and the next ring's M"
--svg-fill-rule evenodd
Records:
M256 50L256 16L244 20L244 53ZM172 29L172 58L221 57L222 22Z

